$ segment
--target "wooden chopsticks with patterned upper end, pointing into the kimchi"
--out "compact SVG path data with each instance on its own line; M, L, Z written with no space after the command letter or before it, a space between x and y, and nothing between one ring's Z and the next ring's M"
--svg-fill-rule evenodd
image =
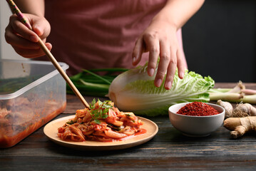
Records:
M21 11L19 10L18 6L16 6L16 4L14 3L14 1L12 0L6 0L10 7L11 10L13 11L14 14L16 14L19 18L19 20L27 27L29 28L31 31L33 31L31 25L26 21L24 15L21 13ZM81 93L78 91L78 89L76 88L76 86L72 83L72 81L70 80L70 78L68 78L68 76L66 75L65 71L63 71L63 69L61 68L61 66L58 64L58 62L56 61L56 59L54 58L54 56L51 54L51 52L48 50L48 48L46 47L46 45L43 43L43 41L41 40L41 38L38 36L39 38L39 45L41 46L42 50L44 51L44 53L46 53L46 56L48 57L48 59L51 61L51 63L53 63L53 66L55 66L55 68L58 70L58 72L61 74L61 76L64 78L64 80L66 81L66 83L68 83L68 86L71 87L71 89L73 90L73 93L76 94L76 96L81 100L81 102L83 103L83 105L86 106L86 108L90 108L88 103L86 102L86 100L83 98L83 95L81 95Z

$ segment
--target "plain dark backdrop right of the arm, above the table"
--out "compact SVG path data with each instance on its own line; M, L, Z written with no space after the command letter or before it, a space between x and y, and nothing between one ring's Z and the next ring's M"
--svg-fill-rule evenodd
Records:
M189 71L215 82L256 82L255 9L255 0L205 0L183 26Z

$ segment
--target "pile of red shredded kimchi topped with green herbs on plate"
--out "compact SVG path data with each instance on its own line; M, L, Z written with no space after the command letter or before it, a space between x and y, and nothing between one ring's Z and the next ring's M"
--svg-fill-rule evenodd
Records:
M110 142L142 131L143 122L133 113L124 113L110 100L96 102L90 108L76 110L75 118L58 128L61 140Z

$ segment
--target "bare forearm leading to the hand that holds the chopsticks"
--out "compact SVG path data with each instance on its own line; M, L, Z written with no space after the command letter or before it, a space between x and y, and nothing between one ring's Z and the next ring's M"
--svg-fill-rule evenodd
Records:
M21 12L44 16L44 0L14 0Z

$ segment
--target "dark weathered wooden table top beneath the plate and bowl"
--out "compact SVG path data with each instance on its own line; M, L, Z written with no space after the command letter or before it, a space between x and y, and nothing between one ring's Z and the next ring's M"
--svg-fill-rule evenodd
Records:
M256 83L245 84L256 89ZM235 83L216 83L232 88ZM86 97L91 101L93 97ZM67 95L67 108L58 115L73 115L83 104ZM221 127L205 138L189 138L175 130L168 115L155 118L159 131L136 147L113 151L79 151L62 147L43 134L43 127L14 147L0 149L0 170L255 170L256 135L232 140Z

